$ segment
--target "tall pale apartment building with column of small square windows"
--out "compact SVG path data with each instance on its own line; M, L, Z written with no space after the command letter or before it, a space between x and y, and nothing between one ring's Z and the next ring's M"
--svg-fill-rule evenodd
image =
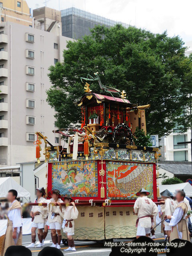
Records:
M61 36L60 17L54 11L35 10L37 28L0 23L0 167L35 161L37 131L55 143L55 111L46 102L51 86L47 74L51 65L63 60L72 39Z

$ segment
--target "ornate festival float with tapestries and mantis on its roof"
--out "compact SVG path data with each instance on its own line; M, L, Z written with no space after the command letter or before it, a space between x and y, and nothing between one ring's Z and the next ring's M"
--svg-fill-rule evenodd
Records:
M77 103L81 128L54 130L62 138L60 145L36 133L38 162L41 140L45 142L47 192L58 189L75 200L79 216L74 240L133 238L136 192L144 188L149 198L158 201L159 148L137 146L133 140L137 127L146 133L145 109L150 105L131 103L124 91L104 86L98 73L81 81L85 81L85 94ZM94 81L99 92L92 92L88 84Z

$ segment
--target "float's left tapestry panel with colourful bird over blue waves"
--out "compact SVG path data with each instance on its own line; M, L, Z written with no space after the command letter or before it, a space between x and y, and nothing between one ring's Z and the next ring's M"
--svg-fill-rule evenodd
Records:
M97 162L71 162L64 170L64 163L52 164L52 189L58 189L62 196L98 196Z

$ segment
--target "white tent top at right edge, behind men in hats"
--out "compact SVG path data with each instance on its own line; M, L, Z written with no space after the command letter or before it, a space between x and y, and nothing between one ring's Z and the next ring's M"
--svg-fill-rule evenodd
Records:
M172 184L172 185L159 185L160 192L162 192L166 189L172 193L174 193L175 190L177 190L177 189L183 189L186 196L192 196L192 186L189 184L189 182Z

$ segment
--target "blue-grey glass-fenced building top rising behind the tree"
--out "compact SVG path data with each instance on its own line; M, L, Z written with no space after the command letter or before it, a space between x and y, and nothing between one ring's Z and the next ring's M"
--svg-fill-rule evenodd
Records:
M62 36L70 37L73 39L78 39L82 38L84 35L89 35L90 28L94 28L97 25L111 27L115 26L116 24L122 24L122 26L126 28L129 26L128 24L116 22L114 20L79 10L74 7L61 10L61 22Z

